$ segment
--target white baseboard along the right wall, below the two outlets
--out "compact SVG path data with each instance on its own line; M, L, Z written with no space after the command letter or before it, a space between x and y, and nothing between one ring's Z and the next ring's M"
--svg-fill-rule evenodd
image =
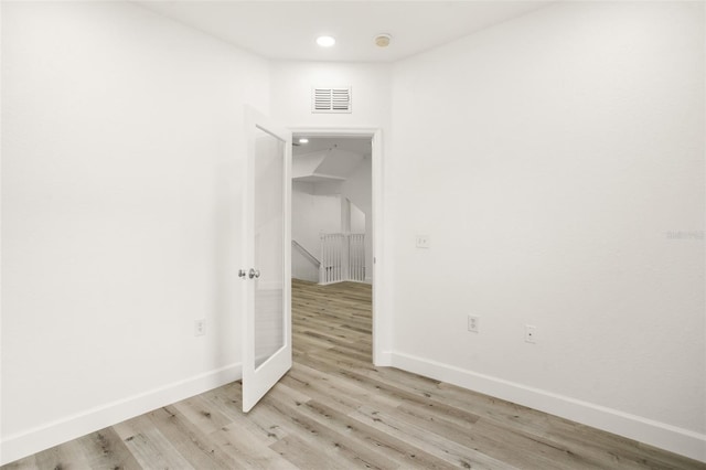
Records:
M703 434L409 354L393 352L391 363L394 367L404 371L524 405L706 462L706 435Z

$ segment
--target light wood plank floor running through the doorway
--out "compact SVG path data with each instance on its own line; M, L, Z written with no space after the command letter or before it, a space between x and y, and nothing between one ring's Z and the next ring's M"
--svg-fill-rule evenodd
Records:
M295 281L292 370L248 415L236 382L2 469L706 469L371 362L371 288Z

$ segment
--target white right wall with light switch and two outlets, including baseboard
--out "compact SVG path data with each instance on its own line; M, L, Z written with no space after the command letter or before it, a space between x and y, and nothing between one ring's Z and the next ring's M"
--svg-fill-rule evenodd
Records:
M553 6L393 94L394 363L706 460L704 4Z

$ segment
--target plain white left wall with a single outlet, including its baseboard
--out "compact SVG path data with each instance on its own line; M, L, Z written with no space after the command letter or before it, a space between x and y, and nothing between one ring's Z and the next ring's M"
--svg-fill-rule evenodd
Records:
M2 462L239 374L268 100L267 62L139 7L2 3Z

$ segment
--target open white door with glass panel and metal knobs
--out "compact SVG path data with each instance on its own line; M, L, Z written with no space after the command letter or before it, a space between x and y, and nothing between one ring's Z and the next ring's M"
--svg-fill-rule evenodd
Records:
M291 367L291 132L246 114L243 410Z

